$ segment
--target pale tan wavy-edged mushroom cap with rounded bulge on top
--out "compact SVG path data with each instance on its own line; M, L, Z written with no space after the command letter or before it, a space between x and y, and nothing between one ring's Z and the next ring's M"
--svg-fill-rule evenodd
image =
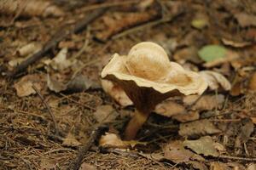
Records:
M202 94L207 82L194 71L170 62L165 50L154 42L141 42L127 56L113 54L102 70L102 78L135 82L138 87L153 88L160 94L177 90L184 95Z

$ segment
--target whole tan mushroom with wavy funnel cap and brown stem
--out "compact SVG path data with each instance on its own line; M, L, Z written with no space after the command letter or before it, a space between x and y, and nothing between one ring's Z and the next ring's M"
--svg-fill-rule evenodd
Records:
M113 54L102 78L117 83L136 107L125 128L125 140L134 139L149 113L162 100L176 95L202 94L207 82L194 71L170 62L165 50L154 42L140 42L128 55Z

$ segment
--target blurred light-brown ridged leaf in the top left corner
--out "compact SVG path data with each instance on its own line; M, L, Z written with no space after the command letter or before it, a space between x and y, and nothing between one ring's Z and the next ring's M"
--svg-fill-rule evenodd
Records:
M64 12L54 4L43 0L1 0L0 13L21 16L62 16Z

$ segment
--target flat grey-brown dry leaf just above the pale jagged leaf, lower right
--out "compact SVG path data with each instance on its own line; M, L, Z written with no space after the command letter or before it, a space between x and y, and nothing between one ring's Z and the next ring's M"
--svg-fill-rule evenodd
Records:
M179 127L178 134L181 136L201 136L207 134L221 133L209 120L200 120L195 122L182 123Z

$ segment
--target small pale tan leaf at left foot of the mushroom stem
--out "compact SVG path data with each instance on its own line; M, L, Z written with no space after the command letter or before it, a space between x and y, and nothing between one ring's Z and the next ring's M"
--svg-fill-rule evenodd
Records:
M105 148L127 148L128 144L125 144L119 136L114 133L105 133L102 135L99 145Z

